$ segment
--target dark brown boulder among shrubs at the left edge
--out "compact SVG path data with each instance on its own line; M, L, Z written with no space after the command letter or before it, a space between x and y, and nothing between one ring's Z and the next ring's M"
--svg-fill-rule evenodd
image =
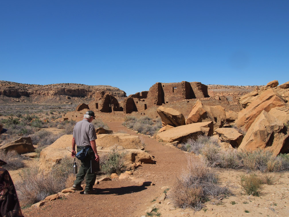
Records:
M34 152L35 148L30 137L21 137L15 141L4 144L0 149L7 151L15 150L18 154Z

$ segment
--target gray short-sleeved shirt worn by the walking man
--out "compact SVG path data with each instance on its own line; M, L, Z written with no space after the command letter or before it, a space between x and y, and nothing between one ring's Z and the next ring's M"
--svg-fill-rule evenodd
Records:
M93 124L85 118L75 124L73 137L77 146L91 146L90 141L97 139Z

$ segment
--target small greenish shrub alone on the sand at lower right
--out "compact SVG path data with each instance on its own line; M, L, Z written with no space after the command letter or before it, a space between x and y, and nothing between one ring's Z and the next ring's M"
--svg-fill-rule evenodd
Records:
M258 177L256 174L242 175L241 178L241 187L248 195L259 196L263 180Z

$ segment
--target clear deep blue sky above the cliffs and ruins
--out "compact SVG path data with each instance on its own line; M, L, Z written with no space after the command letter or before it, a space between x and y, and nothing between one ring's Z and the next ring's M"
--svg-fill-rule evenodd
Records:
M0 1L0 80L289 81L289 1Z

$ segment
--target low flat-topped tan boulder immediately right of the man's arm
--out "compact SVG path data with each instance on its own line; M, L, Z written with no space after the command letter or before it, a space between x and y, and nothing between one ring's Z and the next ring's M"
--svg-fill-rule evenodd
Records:
M99 134L95 143L103 148L122 146L124 149L144 149L138 136L126 133Z

